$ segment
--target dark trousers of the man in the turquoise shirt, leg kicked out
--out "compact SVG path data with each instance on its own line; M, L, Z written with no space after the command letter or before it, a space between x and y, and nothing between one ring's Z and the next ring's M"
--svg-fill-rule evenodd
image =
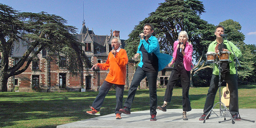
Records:
M133 79L131 81L131 86L128 92L128 97L125 100L124 107L131 108L131 103L135 97L135 93L137 91L138 85L140 81L147 76L147 80L149 82L149 98L150 98L150 115L156 115L156 107L157 107L157 94L156 94L156 80L158 73L152 73L144 71L141 67L137 67Z

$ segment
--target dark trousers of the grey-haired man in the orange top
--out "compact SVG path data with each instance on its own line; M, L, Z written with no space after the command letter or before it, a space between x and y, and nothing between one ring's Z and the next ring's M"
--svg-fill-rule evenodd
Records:
M109 92L110 88L113 86L113 83L109 83L107 81L104 81L103 84L100 87L99 90L99 94L97 95L97 97L95 98L95 100L92 103L92 107L94 109L96 109L97 111L100 111L100 107L103 104L103 101L107 95L107 93ZM116 88L116 109L115 109L115 114L119 113L121 114L121 112L119 112L119 109L121 109L123 107L123 94L124 94L124 85L116 85L115 84L115 88Z

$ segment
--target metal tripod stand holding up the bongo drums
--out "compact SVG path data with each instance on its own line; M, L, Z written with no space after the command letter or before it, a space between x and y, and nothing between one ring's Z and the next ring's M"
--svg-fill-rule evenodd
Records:
M214 62L214 63L218 64L218 68L219 68L219 93L220 93L220 100L219 100L218 103L216 103L216 104L213 106L213 108L211 108L211 110L208 112L208 114L206 115L206 117L208 117L208 115L211 114L211 112L213 112L214 114L216 114L216 113L213 111L213 109L214 109L214 107L215 107L217 104L220 104L220 116L218 116L218 114L216 114L216 116L217 116L218 118L224 117L224 120L223 120L223 121L228 121L228 120L226 120L226 114L228 114L228 116L230 117L229 120L232 120L232 124L234 124L235 121L233 120L232 115L230 114L230 112L229 112L229 110L227 109L227 107L225 106L225 104L224 104L223 102L221 102L221 83L222 83L222 82L221 82L221 73L220 73L220 70L222 70L221 67L220 67L220 63L221 63L221 62L218 61L218 62ZM204 118L203 123L205 123L205 121L206 121L206 118ZM223 121L219 121L219 123L221 123L221 122L223 122Z

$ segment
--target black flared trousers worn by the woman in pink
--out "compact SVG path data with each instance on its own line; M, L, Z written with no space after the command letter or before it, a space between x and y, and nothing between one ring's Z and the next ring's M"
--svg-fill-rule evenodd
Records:
M167 88L164 94L164 101L171 102L171 96L173 95L173 87L176 81L180 78L182 85L182 107L183 111L191 111L189 100L189 86L190 86L190 71L187 71L182 64L175 63L173 71L171 71L170 78L167 83Z

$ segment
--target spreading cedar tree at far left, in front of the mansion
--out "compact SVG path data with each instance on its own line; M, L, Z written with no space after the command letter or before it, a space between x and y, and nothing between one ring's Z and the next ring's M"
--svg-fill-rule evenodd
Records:
M0 4L0 92L7 91L7 79L24 72L42 49L47 49L52 59L66 56L67 67L72 74L83 71L83 64L90 66L81 50L83 44L73 36L76 28L66 23L62 17L47 12L20 13ZM10 67L8 59L14 44L28 49L19 62ZM24 64L25 67L21 69Z

